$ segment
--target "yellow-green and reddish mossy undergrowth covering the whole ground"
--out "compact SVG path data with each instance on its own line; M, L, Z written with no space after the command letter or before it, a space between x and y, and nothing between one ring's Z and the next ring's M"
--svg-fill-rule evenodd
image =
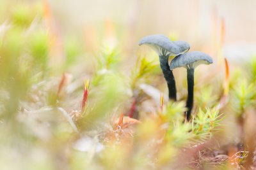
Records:
M0 25L0 169L253 168L255 58L226 79L224 65L198 68L188 122L186 83L168 101L151 50L127 64L102 38L92 56L49 15L44 3L15 4Z

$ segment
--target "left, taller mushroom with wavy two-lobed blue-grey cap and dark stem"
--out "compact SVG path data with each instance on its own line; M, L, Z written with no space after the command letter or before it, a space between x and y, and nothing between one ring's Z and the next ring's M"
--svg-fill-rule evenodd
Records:
M186 41L170 41L163 35L150 35L141 39L139 45L151 46L159 55L160 66L164 74L164 78L168 85L169 99L176 101L176 86L172 71L170 70L168 59L169 56L177 56L188 52L190 46Z

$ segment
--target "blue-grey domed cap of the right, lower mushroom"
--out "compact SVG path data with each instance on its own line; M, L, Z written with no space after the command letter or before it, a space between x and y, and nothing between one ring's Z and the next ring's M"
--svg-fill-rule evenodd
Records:
M177 55L170 63L170 69L177 67L195 68L200 64L212 64L210 55L203 52L188 52Z

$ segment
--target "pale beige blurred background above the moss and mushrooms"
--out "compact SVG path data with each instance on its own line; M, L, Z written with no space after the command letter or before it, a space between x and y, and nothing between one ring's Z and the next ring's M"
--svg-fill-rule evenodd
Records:
M2 22L17 2L1 2ZM256 2L253 0L246 0L246 3L239 0L50 0L46 3L51 10L52 29L60 38L76 38L88 53L98 50L102 39L107 39L105 41L122 46L124 55L131 58L138 51L137 44L143 36L166 34L188 41L191 50L203 48L211 54L215 54L212 49L223 41L223 55L231 60L246 60L255 54ZM225 27L223 34L221 27Z

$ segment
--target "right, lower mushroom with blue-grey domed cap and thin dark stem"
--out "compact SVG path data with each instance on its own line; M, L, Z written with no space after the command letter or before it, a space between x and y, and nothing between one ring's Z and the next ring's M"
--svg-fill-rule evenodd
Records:
M193 93L194 93L194 69L200 64L211 64L212 58L203 52L188 52L175 57L171 64L170 69L173 70L177 67L185 67L187 69L188 79L188 99L186 107L188 111L185 112L186 120L189 120L193 108Z

